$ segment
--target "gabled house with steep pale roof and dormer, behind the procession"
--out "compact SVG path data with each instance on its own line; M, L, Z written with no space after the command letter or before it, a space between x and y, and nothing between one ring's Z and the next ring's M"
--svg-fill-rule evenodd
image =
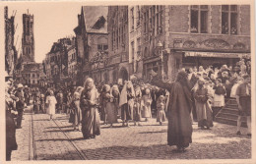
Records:
M75 27L79 68L78 84L87 77L95 82L107 80L104 60L107 57L107 13L104 6L83 6ZM82 77L82 78L81 78Z

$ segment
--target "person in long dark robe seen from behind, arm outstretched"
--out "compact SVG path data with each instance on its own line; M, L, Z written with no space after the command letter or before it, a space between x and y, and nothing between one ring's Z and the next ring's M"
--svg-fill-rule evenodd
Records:
M169 91L167 144L176 145L177 152L184 152L192 142L193 131L190 118L191 86L188 82L188 75L185 71L178 72L175 82L162 82L160 76L154 72L152 76L152 83Z

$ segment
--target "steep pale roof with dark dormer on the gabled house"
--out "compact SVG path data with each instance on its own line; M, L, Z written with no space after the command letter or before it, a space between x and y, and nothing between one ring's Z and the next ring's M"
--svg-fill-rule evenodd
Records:
M107 33L107 6L83 6L87 32Z

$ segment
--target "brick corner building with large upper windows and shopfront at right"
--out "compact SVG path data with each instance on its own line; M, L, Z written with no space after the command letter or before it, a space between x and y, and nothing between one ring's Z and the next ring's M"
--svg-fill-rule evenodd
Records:
M142 6L142 13L144 79L162 65L172 81L180 68L234 65L250 56L249 5Z

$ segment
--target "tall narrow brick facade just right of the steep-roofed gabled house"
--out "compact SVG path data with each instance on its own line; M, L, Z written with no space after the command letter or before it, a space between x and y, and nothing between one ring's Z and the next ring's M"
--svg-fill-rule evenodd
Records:
M118 79L127 81L132 74L129 63L129 27L128 6L108 7L108 60L107 73L109 83Z

